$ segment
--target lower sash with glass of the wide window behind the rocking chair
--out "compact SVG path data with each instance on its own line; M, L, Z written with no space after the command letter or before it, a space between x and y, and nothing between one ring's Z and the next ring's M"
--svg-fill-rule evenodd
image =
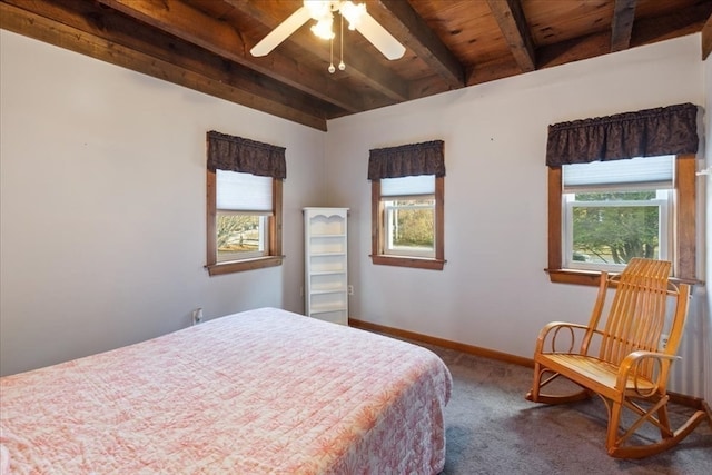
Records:
M668 258L666 190L565 195L567 267L615 269L632 257Z

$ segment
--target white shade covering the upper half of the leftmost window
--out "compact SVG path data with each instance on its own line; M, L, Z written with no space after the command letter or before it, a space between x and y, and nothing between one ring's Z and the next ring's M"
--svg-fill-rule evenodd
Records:
M271 211L271 177L216 170L217 209Z

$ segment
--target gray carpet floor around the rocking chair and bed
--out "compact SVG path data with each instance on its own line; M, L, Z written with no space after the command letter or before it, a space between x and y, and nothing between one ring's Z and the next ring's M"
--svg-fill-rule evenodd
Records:
M531 403L524 398L531 368L423 346L438 354L453 375L442 475L712 474L708 423L662 454L612 458L605 452L606 409L599 397L560 406ZM683 406L671 412L673 420L692 414Z

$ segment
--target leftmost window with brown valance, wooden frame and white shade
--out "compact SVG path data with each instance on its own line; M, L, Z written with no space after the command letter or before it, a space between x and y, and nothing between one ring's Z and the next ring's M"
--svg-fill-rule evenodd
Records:
M261 169L265 164L275 169ZM283 148L208 132L206 268L211 276L281 264L278 177L285 175Z

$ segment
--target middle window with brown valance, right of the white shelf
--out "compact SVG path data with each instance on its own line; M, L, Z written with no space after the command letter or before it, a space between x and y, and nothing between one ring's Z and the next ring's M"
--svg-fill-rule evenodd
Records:
M442 140L370 150L372 261L442 270L445 161Z

